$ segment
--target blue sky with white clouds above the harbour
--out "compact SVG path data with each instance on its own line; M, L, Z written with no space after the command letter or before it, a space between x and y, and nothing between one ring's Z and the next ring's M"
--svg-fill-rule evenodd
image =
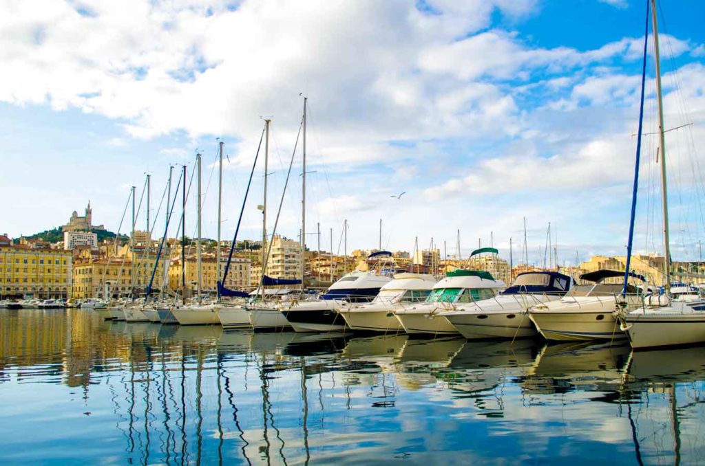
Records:
M676 258L693 260L704 229L705 5L661 11L666 126L694 123L667 140L672 242ZM61 225L88 199L94 222L115 230L145 172L154 218L168 165L190 173L201 151L203 229L215 237L220 137L230 237L262 118L272 119L273 221L303 92L307 232L320 224L321 248L332 228L338 250L345 218L349 249L376 247L381 218L385 248L411 250L418 237L454 254L460 229L463 255L492 237L508 256L511 237L517 257L526 217L534 262L548 222L561 262L623 253L645 13L641 0L0 2L0 63L12 70L0 76L0 232ZM653 79L646 91L649 132ZM645 137L639 252L661 250L656 146ZM293 172L278 227L287 237L300 228L299 156ZM257 173L245 238L261 235ZM193 197L187 217L192 234Z

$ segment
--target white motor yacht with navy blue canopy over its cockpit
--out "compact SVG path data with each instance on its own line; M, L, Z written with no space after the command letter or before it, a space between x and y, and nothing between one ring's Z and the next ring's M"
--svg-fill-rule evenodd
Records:
M529 338L537 331L527 310L560 299L572 283L571 277L558 272L524 272L501 294L459 304L439 315L469 340Z

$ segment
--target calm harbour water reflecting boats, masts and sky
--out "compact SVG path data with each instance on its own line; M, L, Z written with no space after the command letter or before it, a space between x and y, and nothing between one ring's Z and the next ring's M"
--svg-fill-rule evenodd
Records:
M694 463L701 350L3 310L0 461Z

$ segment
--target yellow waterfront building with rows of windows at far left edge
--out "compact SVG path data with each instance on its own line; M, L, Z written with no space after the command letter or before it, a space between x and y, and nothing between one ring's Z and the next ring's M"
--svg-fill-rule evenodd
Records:
M13 245L0 237L0 297L70 298L70 251Z

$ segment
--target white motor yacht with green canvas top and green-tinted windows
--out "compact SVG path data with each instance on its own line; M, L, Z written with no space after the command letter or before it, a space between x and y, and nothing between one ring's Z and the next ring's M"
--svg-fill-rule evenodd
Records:
M434 285L426 301L397 309L394 315L408 334L458 334L458 330L440 313L457 310L465 303L492 298L505 287L504 282L494 279L489 272L454 270Z

